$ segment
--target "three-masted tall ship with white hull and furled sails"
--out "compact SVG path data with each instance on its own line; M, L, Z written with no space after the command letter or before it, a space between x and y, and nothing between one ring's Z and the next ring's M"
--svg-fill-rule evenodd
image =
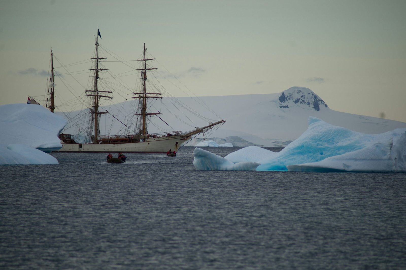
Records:
M210 133L226 122L222 119L215 121L206 119L207 122L202 127L194 127L192 130L184 132L171 130L171 125L160 116L161 113L157 109L158 106L154 103L157 100L162 101L162 99L166 98L162 93L156 91L156 89L159 89L160 84L155 83L154 85L158 85L159 87L151 87L153 88L152 91L149 89L150 82L147 74L155 71L157 68L149 66L149 62L155 60L155 58L150 57L149 54L147 55L145 43L143 53L137 60L140 65L138 68L133 68L138 72L138 87L136 91L130 93L132 97L127 101L130 104L120 104L119 106L117 106L117 104L109 106L102 105L104 104L103 102L112 100L113 91L112 89L106 89L106 87L108 87L105 81L106 78L102 78L101 76L101 74L108 69L104 66L103 62L106 60L106 57L102 57L104 55L101 56L99 53L100 44L98 38L101 38L101 35L99 30L97 31L98 33L95 36L95 56L91 58L94 64L90 69L92 72L91 83L89 83L90 86L86 87L84 93L81 96L79 95L80 97L73 99L82 104L84 104L84 99L88 100L86 108L67 113L63 112L65 105L60 105L60 112L58 113L63 114L68 123L59 135L62 144L62 148L59 152L166 153L169 149L178 151L184 142L195 136ZM47 99L45 106L51 112L56 113L54 110L58 108L58 106L55 101L53 62L54 54L51 49L51 72L47 86L48 92L46 94ZM120 62L128 63L125 61ZM109 79L111 78L112 77L109 77ZM173 97L167 98L169 98L171 102L174 102ZM28 97L28 101L35 103L32 97ZM169 111L171 114L174 114L179 111L180 106L182 106L182 102L173 104L173 110ZM123 113L117 107L125 107L127 111ZM128 112L128 108L132 108L132 112ZM153 111L154 109L156 111ZM187 107L186 109L188 111L186 116L188 114L198 115L192 108ZM114 115L113 111L115 111L117 115ZM108 120L103 119L106 117ZM164 123L163 125L166 128L159 128L156 124L156 120L155 122L153 120L155 117L160 123ZM199 117L202 118L201 115L199 115ZM153 131L150 128L151 124L153 125ZM104 132L101 132L101 129ZM73 132L76 132L76 134Z

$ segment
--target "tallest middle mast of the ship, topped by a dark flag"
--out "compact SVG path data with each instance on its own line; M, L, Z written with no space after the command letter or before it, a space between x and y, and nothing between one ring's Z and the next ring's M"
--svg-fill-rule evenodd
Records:
M97 29L98 35L99 35L99 29ZM105 96L105 95L100 95L100 93L108 93L108 94L112 94L112 91L99 91L99 89L97 88L97 81L101 78L99 78L99 71L102 70L108 70L106 68L99 68L99 61L102 59L106 59L106 57L98 57L98 47L99 47L99 43L97 41L98 36L96 36L96 55L95 58L91 58L96 60L95 61L95 68L91 68L90 70L94 70L94 85L93 85L93 90L86 90L86 92L89 92L90 94L86 94L86 96L92 96L92 100L91 100L91 107L90 111L92 113L92 120L95 123L95 131L94 131L94 140L93 143L97 144L98 140L99 140L99 115L105 114L107 112L99 112L99 98L104 97L104 98L113 98L111 96ZM100 36L101 38L101 36Z

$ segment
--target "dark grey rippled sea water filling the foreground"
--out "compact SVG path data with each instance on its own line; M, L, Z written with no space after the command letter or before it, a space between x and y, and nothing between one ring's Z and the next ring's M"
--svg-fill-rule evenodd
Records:
M406 174L199 171L193 149L0 166L0 269L406 269Z

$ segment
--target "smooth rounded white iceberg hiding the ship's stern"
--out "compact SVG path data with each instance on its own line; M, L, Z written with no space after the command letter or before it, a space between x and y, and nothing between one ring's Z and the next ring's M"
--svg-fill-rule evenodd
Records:
M58 164L45 152L62 147L58 134L66 120L35 104L0 106L0 165Z

